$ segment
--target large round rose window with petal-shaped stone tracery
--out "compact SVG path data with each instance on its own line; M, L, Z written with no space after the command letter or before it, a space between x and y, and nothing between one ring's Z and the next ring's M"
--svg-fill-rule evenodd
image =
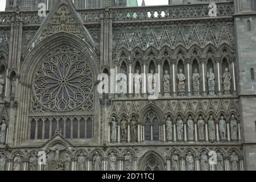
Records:
M53 111L73 110L92 93L92 69L80 55L57 53L39 65L33 86L43 106Z

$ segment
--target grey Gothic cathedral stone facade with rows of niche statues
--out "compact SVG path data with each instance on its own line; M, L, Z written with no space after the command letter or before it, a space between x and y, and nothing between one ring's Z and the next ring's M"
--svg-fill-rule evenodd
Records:
M217 1L216 17L208 1L57 0L45 18L10 3L0 13L0 170L256 168L254 1ZM127 92L98 93L98 75L113 71L127 75ZM157 99L143 74L133 94L136 72L159 75Z

